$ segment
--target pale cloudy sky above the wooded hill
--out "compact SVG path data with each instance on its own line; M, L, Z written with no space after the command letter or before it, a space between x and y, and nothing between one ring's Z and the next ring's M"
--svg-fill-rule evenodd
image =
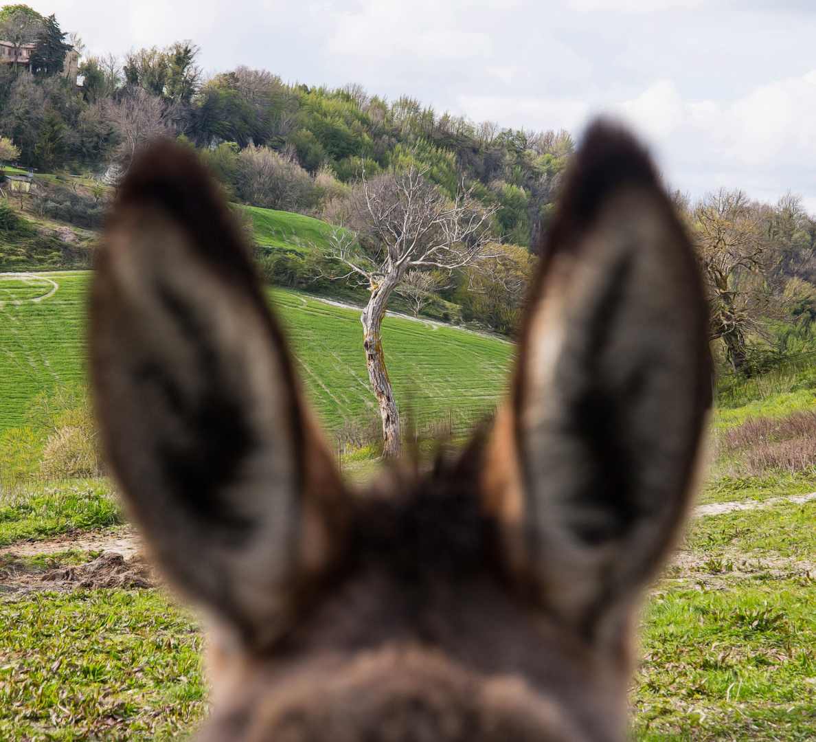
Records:
M608 113L692 195L721 184L816 212L813 0L29 0L88 51L189 38L207 73L415 96L580 135Z

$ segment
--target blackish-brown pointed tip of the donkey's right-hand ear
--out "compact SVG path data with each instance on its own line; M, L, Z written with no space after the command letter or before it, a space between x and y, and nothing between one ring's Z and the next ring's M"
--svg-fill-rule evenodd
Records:
M543 234L541 255L551 255L585 229L601 204L625 184L659 188L660 178L648 151L623 125L598 119L574 154L561 191L560 207Z

